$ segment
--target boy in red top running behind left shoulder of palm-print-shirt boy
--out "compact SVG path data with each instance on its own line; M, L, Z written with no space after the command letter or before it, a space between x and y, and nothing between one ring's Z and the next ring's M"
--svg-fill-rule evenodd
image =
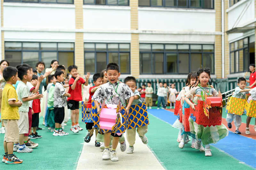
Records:
M100 73L94 74L92 79L93 79L94 86L90 87L89 89L89 100L88 100L87 108L92 108L92 96L94 92L102 85ZM93 124L94 123L86 123L86 130L88 130L88 134L84 138L84 142L89 143L91 141L91 137L93 135L93 129L92 129ZM98 129L95 129L96 137L97 137L97 134L98 134ZM95 146L100 147L100 142L97 142L97 140L95 140Z

